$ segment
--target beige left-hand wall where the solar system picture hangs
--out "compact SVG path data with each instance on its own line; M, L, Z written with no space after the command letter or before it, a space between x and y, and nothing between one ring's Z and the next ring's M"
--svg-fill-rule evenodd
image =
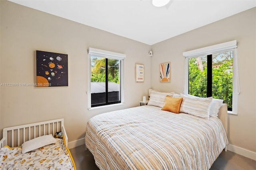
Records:
M84 138L88 119L138 106L150 88L150 45L120 37L12 2L1 0L1 83L35 83L36 50L68 54L68 87L1 86L0 129L64 118L69 142ZM125 104L88 111L89 47L126 54ZM135 63L144 64L144 82L135 82Z

